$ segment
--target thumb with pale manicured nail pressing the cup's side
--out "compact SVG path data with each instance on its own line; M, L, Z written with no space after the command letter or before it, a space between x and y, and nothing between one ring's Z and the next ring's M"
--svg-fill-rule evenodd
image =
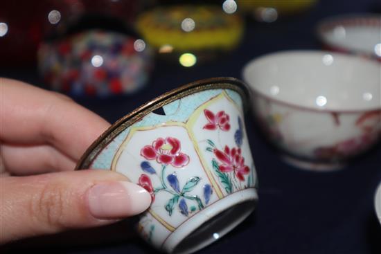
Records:
M0 244L137 215L150 194L107 170L0 178Z

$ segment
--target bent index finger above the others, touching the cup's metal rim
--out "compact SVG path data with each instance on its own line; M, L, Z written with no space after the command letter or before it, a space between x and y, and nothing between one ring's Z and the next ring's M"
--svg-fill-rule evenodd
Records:
M100 116L58 93L0 78L0 140L50 144L73 160L109 127Z

